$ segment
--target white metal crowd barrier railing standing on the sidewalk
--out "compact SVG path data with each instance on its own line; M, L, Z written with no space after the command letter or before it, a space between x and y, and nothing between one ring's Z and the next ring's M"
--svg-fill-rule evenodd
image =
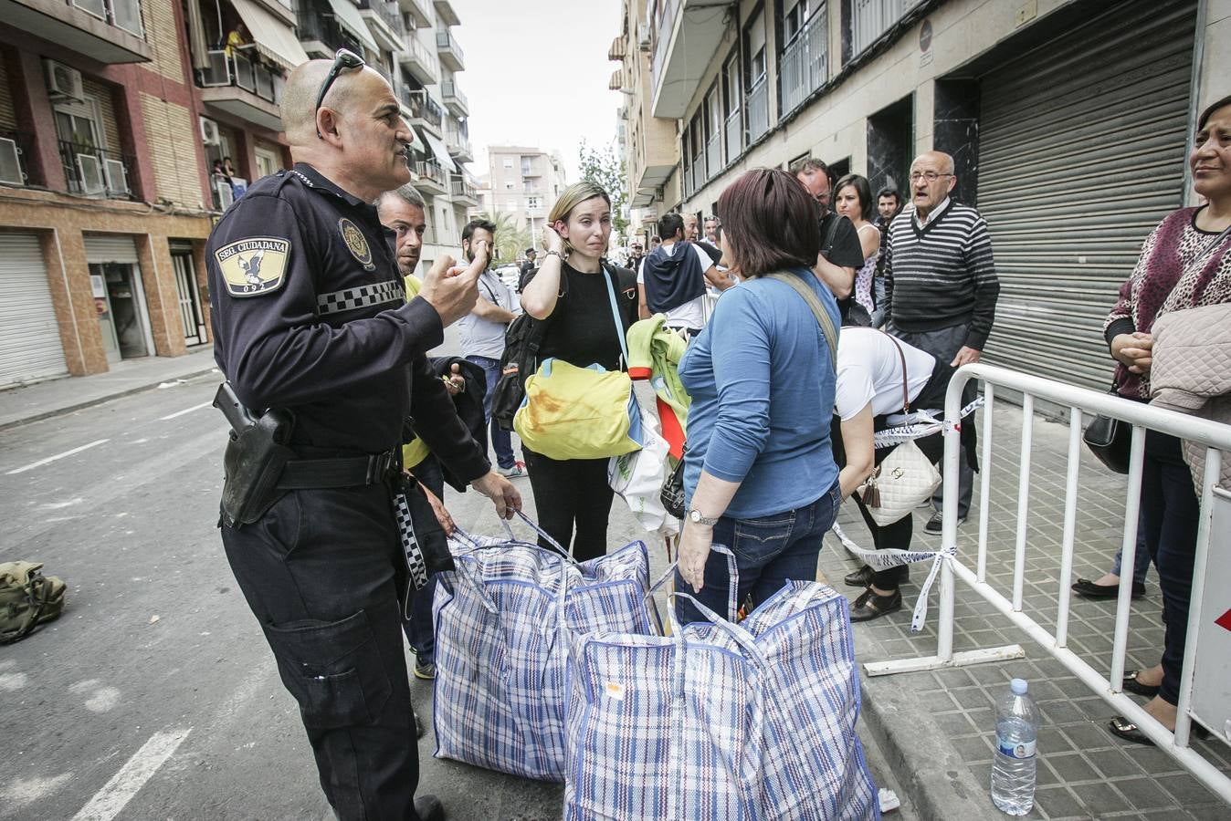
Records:
M961 409L963 388L971 379L982 380L985 401L984 426L981 431L982 463L980 471L981 504L979 514L979 557L975 570L970 570L970 568L965 567L956 558L959 495L956 488L960 458L960 434L958 425L954 423L960 418L959 412ZM1018 473L1017 531L1014 538L1012 599L1006 599L1000 591L988 585L986 579L987 525L992 506L988 501L992 466L992 410L995 407L995 392L997 387L1004 387L1022 393L1022 456ZM1049 632L1034 618L1023 612L1025 536L1030 485L1032 418L1034 414L1034 401L1037 398L1070 408L1069 469L1065 482L1065 517L1061 536L1059 612L1054 633ZM1109 676L1103 676L1093 666L1091 666L1087 660L1082 659L1067 648L1069 585L1072 575L1073 538L1077 520L1078 462L1082 450L1082 414L1085 412L1113 417L1133 425L1133 445L1130 450L1129 483L1125 500L1121 542L1121 567L1125 568L1125 572L1120 575L1120 590L1115 611L1115 634L1112 649L1112 667ZM972 420L968 420L968 424L974 423ZM1128 570L1134 567L1134 558L1136 554L1137 513L1141 495L1141 468L1145 458L1146 429L1172 434L1205 447L1205 474L1199 494L1200 519L1197 533L1197 557L1193 568L1194 581L1192 599L1189 601L1188 643L1185 645L1183 671L1181 675L1179 704L1177 705L1178 718L1176 720L1174 733L1163 726L1153 717L1146 713L1146 710L1142 709L1136 702L1121 692L1124 681L1124 659L1128 648L1129 606L1133 581L1133 574ZM939 621L937 624L937 653L934 656L865 664L864 669L868 675L879 676L897 672L913 672L918 670L934 670L938 667L963 666L981 661L1002 661L1024 655L1024 651L1018 645L954 653L954 576L956 576L970 585L975 592L987 600L996 607L996 610L1007 616L1014 626L1023 629L1034 642L1046 649L1094 693L1102 696L1120 714L1136 724L1141 731L1145 733L1145 735L1149 736L1161 750L1176 758L1176 761L1178 761L1189 773L1205 784L1205 787L1221 796L1222 800L1231 803L1231 778L1222 774L1222 772L1220 772L1214 764L1195 751L1190 750L1188 746L1189 733L1192 729L1189 707L1193 697L1193 672L1195 666L1197 635L1201 613L1203 580L1206 574L1206 565L1209 560L1214 485L1219 479L1222 451L1231 454L1231 425L1217 424L1172 410L1162 410L1160 408L1153 408L1139 402L1131 402L1108 393L1099 393L1097 391L1020 374L1004 367L980 364L965 365L960 367L949 382L948 395L945 396L944 436L943 474L945 493L944 510L942 511L942 551L948 552L948 554L943 557L940 564L940 601ZM1221 728L1216 728L1216 730L1225 731Z

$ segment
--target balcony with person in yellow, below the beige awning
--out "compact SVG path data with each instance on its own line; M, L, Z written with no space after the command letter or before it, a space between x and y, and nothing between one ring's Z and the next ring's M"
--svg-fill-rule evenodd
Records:
M209 68L198 71L201 101L271 132L282 130L283 76L257 58L256 45L211 49Z

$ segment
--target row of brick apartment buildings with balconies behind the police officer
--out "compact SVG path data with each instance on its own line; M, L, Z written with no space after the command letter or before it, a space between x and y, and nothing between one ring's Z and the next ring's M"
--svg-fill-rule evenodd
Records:
M341 47L415 124L425 261L455 253L478 202L458 22L428 0L0 0L0 388L211 342L209 230L289 167L286 76Z

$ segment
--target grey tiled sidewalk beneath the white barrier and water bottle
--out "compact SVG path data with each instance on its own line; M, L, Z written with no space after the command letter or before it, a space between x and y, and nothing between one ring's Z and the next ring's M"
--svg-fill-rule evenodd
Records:
M1013 546L1017 526L1017 483L1022 430L1020 409L1003 401L993 412L993 458L991 516L988 520L987 580L1006 597L1012 596ZM981 415L981 412L980 412ZM980 419L980 431L982 420ZM1067 425L1034 419L1034 449L1030 510L1027 538L1025 612L1053 628L1057 613L1060 542L1064 522ZM959 528L958 548L966 567L974 569L979 538L979 478L970 519ZM1073 573L1096 579L1112 565L1119 548L1125 477L1103 468L1083 450L1077 506ZM939 536L923 532L931 510L915 514L915 547L934 548ZM853 504L843 506L838 524L854 542L872 547L872 538ZM826 540L821 572L836 585L858 563ZM904 587L906 608L892 616L856 626L856 653L860 661L902 659L936 654L937 587L921 633L910 632L910 607L927 565L912 568ZM1125 666L1149 667L1162 649L1162 594L1153 569L1147 595L1133 603L1129 649ZM1067 584L1070 580L1065 580ZM852 595L858 591L848 589ZM974 783L984 792L987 816L1003 817L992 806L988 780L995 735L993 704L1007 689L1008 680L1029 680L1030 693L1043 712L1039 735L1039 787L1033 819L1229 819L1231 807L1188 776L1161 750L1121 741L1107 729L1114 710L1076 676L1034 644L981 596L956 583L954 650L1020 644L1027 658L1002 664L974 665L932 672L892 676L904 688L912 688L931 713L939 731L966 763ZM1070 608L1069 646L1096 670L1109 671L1115 601L1092 602L1073 596ZM883 654L883 655L881 655ZM870 682L872 686L884 680ZM1194 748L1224 772L1231 772L1231 747L1219 741L1193 741ZM907 766L911 763L906 748ZM924 762L920 762L922 766Z

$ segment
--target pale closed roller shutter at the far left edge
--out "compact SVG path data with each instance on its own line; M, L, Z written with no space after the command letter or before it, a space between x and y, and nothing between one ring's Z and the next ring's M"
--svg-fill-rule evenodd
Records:
M0 387L65 372L38 237L0 234Z

